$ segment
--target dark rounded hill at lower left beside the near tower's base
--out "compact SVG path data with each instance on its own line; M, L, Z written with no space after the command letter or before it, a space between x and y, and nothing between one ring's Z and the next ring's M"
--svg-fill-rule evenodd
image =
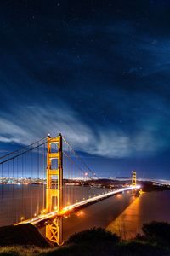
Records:
M49 247L48 241L32 224L0 227L0 247L15 245Z

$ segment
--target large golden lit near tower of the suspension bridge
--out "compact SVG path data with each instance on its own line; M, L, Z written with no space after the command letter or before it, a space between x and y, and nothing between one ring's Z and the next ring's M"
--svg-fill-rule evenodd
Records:
M51 145L56 144L57 152L52 152ZM46 188L46 211L53 212L53 199L57 198L58 213L63 208L63 150L62 150L62 136L59 133L58 137L47 138L47 188ZM52 168L52 161L55 166ZM53 186L53 177L57 177L57 189ZM52 224L46 225L46 237L58 245L63 243L63 223L62 217L54 219Z

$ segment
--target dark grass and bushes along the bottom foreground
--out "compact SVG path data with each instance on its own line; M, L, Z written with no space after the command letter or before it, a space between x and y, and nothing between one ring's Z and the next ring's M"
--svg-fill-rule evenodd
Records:
M85 230L70 237L63 247L40 248L0 247L0 255L104 255L104 256L169 256L170 224L152 222L144 224L144 235L131 241L121 241L118 236L103 229Z

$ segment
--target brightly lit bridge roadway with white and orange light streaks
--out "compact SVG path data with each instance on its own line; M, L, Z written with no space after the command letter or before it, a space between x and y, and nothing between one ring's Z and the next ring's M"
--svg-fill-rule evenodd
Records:
M22 222L20 222L20 223L18 223L18 224L27 224L27 223L30 223L30 224L33 224L33 225L37 225L37 224L39 224L39 223L41 223L41 222L47 221L47 220L50 219L50 218L55 218L55 217L59 217L59 216L64 216L64 215L66 215L67 213L74 212L74 211L76 211L77 208L79 208L79 207L85 207L85 206L88 205L88 204L91 204L91 203L93 203L93 202L95 202L95 201L103 200L103 199L105 199L105 198L107 198L107 197L110 197L111 195L116 195L116 194L122 193L122 192L124 192L124 191L134 190L134 189L140 189L140 185L137 185L137 186L129 186L129 187L126 187L126 188L111 190L111 192L107 192L107 193L102 194L102 195L96 195L96 196L91 197L91 198L88 198L88 199L86 199L86 200L76 202L76 203L73 204L73 205L64 207L61 212L58 212L58 210L55 210L54 212L42 213L41 215L38 215L38 216L36 216L36 217L34 217L34 218L29 218L29 219L23 220ZM15 224L15 225L17 225L17 224Z

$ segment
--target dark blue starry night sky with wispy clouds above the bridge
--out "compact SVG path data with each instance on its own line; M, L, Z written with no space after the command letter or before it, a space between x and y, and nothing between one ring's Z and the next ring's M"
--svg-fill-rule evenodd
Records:
M0 152L61 132L99 177L170 179L170 1L0 3Z

